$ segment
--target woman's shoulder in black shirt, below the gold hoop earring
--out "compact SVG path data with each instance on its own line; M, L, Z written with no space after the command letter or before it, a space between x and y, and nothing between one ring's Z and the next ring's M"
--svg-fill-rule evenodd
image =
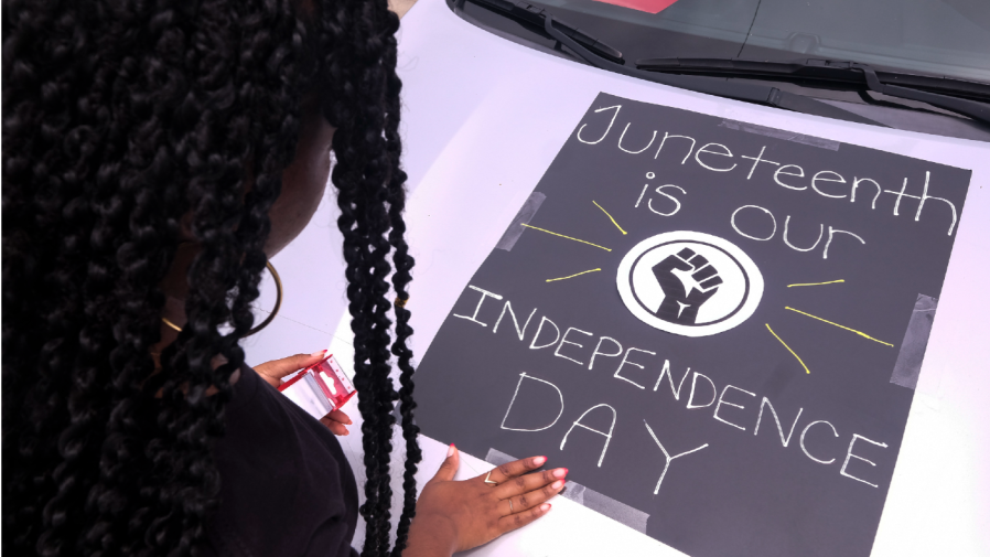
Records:
M357 488L336 438L249 367L234 386L225 424L214 447L216 553L349 555Z

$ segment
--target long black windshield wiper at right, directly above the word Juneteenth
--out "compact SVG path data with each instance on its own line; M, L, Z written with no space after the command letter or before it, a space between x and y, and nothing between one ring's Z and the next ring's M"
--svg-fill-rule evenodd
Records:
M990 124L988 85L948 77L878 71L857 62L816 58L789 63L720 58L650 58L638 61L636 68L667 74L784 79L799 84L811 82L844 88L850 85L857 88L865 86L874 93L927 103Z

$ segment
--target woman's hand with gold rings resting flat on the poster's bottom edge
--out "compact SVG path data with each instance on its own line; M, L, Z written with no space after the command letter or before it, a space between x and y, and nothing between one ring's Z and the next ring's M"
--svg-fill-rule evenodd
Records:
M491 473L455 482L460 453L451 444L446 460L419 496L403 555L449 556L491 542L547 514L550 511L547 500L563 489L567 469L527 473L546 461L546 457L517 460Z

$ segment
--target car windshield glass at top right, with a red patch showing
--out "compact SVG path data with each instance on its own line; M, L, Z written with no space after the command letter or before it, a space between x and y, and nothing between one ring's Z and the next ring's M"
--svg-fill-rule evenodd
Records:
M988 0L528 0L626 61L828 58L990 83Z

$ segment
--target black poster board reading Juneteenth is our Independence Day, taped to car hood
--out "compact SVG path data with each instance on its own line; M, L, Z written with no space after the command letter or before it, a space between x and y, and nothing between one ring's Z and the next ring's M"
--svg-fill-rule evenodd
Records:
M693 557L869 555L969 179L601 94L426 354L422 431Z

